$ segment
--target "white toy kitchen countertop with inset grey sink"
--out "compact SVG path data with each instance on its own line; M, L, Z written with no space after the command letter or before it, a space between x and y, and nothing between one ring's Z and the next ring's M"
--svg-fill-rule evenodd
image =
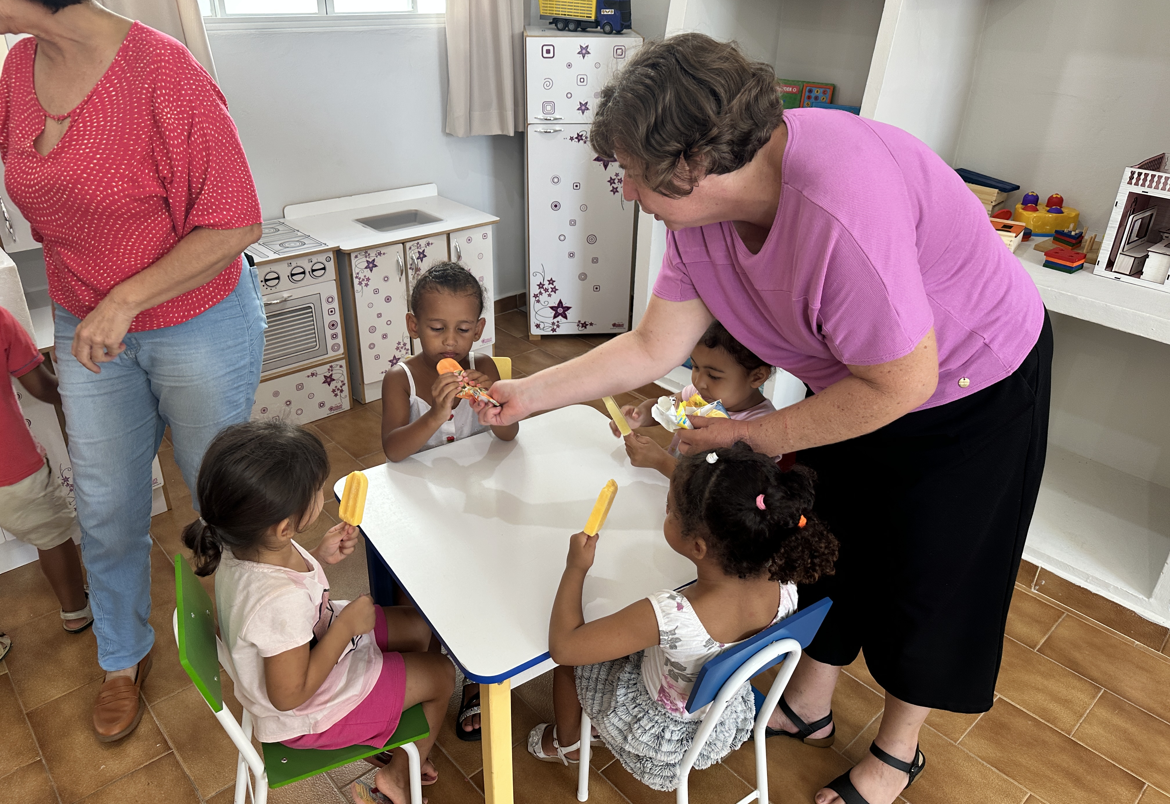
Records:
M262 235L260 245L273 258L325 249L358 251L498 221L442 197L435 185L418 185L288 206L283 219L264 223L284 226L287 231ZM281 234L290 236L281 240Z

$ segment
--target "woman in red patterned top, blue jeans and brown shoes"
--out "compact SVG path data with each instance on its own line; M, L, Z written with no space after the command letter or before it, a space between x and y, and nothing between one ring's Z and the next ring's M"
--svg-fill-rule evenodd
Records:
M138 725L151 665L164 429L194 487L207 443L252 410L264 314L240 252L260 236L260 205L223 95L179 42L95 0L4 0L0 27L32 34L0 74L0 157L44 247L106 671L94 728L112 741Z

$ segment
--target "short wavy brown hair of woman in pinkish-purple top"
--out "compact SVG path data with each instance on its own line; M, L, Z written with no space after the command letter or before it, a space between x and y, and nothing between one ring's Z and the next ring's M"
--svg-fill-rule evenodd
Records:
M750 162L783 115L770 64L750 61L734 42L679 34L645 44L606 84L590 143L607 159L620 151L651 189L680 197L696 173Z

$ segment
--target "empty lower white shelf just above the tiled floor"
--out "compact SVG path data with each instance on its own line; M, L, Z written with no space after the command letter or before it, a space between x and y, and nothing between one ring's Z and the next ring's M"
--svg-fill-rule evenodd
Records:
M1049 444L1024 557L1170 625L1170 488Z

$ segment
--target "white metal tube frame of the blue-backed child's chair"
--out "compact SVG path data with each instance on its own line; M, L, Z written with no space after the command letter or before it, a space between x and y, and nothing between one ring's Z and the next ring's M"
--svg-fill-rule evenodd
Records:
M748 804L748 802L758 799L760 804L768 804L768 747L764 744L764 729L768 727L768 719L771 716L772 711L776 709L780 695L784 694L784 688L789 686L789 680L797 668L797 663L800 661L800 643L791 638L778 639L762 646L750 659L739 665L739 668L731 674L731 678L720 687L718 694L710 702L710 708L708 708L707 714L703 715L703 720L700 722L698 732L695 733L695 739L690 743L690 748L687 749L687 754L682 757L682 764L679 765L679 786L675 788L675 800L677 804L689 804L687 783L690 769L695 764L695 760L698 758L698 754L703 750L703 746L707 744L708 737L711 736L711 732L715 730L715 726L720 722L720 718L723 716L723 709L727 708L731 695L743 686L744 681L749 681L765 666L785 654L787 654L787 658L780 665L780 671L776 674L776 680L772 681L772 686L768 691L768 696L764 698L764 705L756 713L756 725L752 729L756 742L756 789L736 802L736 804ZM589 800L591 727L589 715L581 712L580 764L577 768L577 800L579 802ZM236 804L240 803L238 802Z

